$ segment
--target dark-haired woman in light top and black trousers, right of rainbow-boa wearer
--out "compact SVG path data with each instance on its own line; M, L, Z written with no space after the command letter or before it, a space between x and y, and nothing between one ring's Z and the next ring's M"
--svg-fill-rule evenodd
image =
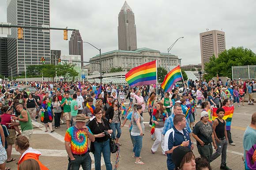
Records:
M53 113L54 113L54 127L55 129L60 128L60 117L61 117L61 106L57 96L53 97Z

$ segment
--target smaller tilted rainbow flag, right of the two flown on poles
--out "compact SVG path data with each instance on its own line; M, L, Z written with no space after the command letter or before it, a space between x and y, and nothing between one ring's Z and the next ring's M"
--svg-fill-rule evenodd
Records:
M174 84L177 81L182 80L182 75L181 75L181 68L180 65L172 69L165 77L163 83L161 84L161 87L165 92L169 92L172 90Z

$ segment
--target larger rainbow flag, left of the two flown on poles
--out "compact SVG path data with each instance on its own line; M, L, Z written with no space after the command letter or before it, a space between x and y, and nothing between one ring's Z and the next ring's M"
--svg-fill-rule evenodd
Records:
M156 60L147 62L126 73L125 80L130 87L155 84L156 69Z

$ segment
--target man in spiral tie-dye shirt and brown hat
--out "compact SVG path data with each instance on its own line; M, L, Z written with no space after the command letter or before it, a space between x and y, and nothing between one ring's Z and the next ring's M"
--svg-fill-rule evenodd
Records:
M68 166L71 170L79 170L81 165L83 170L91 169L88 138L90 141L94 141L95 137L90 128L85 126L87 121L84 114L77 115L75 126L68 128L65 134L65 148L68 152Z

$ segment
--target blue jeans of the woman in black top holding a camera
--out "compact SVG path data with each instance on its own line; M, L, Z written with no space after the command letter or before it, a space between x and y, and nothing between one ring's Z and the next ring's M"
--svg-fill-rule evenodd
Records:
M101 170L101 158L103 154L104 162L106 165L106 170L112 170L112 164L110 162L110 145L109 140L104 142L94 142L94 160L95 160L95 170Z

